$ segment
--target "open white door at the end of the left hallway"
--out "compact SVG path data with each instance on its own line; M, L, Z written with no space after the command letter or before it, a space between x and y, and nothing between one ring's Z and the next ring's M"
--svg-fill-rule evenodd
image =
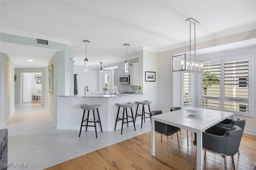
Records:
M31 94L31 74L23 73L23 101L22 103L32 102Z

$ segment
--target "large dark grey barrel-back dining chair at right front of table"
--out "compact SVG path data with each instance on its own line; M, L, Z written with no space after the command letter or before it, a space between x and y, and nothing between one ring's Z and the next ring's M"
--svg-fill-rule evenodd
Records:
M203 148L207 151L213 152L215 154L220 154L224 158L225 170L227 170L226 156L231 156L233 169L235 170L234 164L234 154L238 152L239 145L242 139L243 131L242 129L234 125L232 129L226 127L215 125L208 130L209 133L203 132ZM196 145L196 133L194 145ZM205 153L206 153L205 150ZM206 157L204 157L205 159ZM196 166L196 156L194 159L194 166Z

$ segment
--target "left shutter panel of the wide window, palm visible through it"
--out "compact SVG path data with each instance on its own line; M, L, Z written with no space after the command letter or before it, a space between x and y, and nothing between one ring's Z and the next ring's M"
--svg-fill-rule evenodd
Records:
M220 63L202 67L202 107L220 109Z

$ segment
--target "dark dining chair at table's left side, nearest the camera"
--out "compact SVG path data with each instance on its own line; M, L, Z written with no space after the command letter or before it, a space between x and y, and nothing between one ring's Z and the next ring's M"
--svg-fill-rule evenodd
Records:
M150 112L150 121L151 121L151 116L159 115L159 114L162 114L161 110L151 111ZM179 127L175 127L172 125L167 125L165 123L155 121L155 131L161 133L161 142L162 142L162 135L164 134L167 136L168 157L170 157L170 147L169 147L169 136L170 135L177 133L178 146L180 149L180 142L179 142L179 137L178 137L178 131L180 131Z

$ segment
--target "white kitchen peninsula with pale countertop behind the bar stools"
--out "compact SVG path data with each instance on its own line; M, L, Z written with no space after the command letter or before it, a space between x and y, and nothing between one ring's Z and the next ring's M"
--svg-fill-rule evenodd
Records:
M143 101L149 100L146 94L97 94L97 95L86 95L86 96L58 96L58 102L62 104L58 110L58 123L57 129L67 129L67 130L80 130L80 125L82 121L83 110L80 106L83 104L94 105L101 104L99 107L100 120L102 124L102 131L113 131L116 121L116 115L118 107L116 103L124 104L127 102ZM141 109L138 109L141 113ZM120 110L122 111L122 109ZM87 115L86 111L86 115ZM133 108L133 114L135 115L136 105ZM130 109L128 109L128 114ZM93 119L92 114L90 114L89 119ZM148 119L149 121L149 119ZM130 122L131 123L131 122ZM136 124L141 123L141 117L136 119ZM98 123L96 123L98 124ZM116 129L120 129L122 123L117 123ZM132 126L132 123L129 124ZM97 126L97 131L100 130L99 125ZM82 130L84 130L83 127ZM88 127L88 131L94 131L94 127Z

